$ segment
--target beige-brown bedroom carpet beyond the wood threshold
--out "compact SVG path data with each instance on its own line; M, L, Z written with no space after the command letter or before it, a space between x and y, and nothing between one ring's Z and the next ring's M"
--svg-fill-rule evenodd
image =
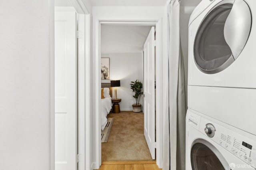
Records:
M144 137L144 114L132 111L110 113L114 117L107 143L102 143L102 161L152 160Z

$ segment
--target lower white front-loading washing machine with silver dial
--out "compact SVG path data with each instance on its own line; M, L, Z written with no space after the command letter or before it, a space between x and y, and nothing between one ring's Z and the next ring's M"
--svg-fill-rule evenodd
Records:
M186 170L256 170L256 136L188 110Z

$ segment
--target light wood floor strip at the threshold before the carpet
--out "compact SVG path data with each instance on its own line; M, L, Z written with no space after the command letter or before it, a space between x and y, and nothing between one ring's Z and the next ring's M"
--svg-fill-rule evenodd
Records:
M102 162L98 170L162 170L156 161Z

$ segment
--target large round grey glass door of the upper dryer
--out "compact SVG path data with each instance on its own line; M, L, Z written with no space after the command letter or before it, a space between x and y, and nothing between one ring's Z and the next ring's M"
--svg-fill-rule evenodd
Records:
M223 0L208 12L194 40L198 69L214 74L240 55L250 35L252 15L244 0Z

